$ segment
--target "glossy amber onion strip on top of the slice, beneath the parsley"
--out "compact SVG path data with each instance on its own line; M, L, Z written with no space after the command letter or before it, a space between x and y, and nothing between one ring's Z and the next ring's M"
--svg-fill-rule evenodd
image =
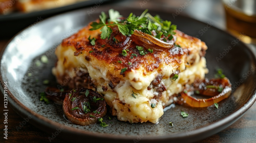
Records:
M135 35L135 37L138 40L140 40L146 44L157 45L157 46L164 47L164 48L171 48L174 46L174 43L176 42L175 36L174 36L175 38L173 38L172 40L168 40L168 42L164 42L158 38L155 38L154 36L152 36L150 34L138 31L136 29L134 30L133 35Z

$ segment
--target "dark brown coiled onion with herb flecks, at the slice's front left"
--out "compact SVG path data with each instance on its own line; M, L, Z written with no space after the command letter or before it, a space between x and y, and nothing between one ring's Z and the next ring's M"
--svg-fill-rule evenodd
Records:
M86 90L89 91L87 97L85 94ZM79 94L80 92L85 93ZM98 92L91 89L73 89L66 94L66 98L63 101L64 114L72 123L82 126L94 124L98 121L98 118L105 116L107 111L105 100L99 100L99 98L101 99L102 96ZM88 102L90 105L88 105ZM84 111L84 109L86 110Z

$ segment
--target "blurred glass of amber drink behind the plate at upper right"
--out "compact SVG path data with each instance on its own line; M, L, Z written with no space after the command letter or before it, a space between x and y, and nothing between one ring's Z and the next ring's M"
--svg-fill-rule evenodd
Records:
M227 30L241 41L256 44L256 1L222 0Z

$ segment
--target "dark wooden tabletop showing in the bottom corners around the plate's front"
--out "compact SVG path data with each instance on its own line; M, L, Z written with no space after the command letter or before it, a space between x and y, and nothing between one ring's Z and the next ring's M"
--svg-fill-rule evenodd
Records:
M3 49L8 40L0 40L0 51ZM3 101L3 96L0 97ZM31 124L25 124L24 127L17 130L16 126L24 121L15 111L8 108L8 140L4 139L3 129L4 121L3 110L0 114L0 142L50 142L47 134ZM221 132L212 135L198 142L256 142L256 103L234 124ZM29 123L29 122L28 122ZM51 142L66 142L58 136Z

